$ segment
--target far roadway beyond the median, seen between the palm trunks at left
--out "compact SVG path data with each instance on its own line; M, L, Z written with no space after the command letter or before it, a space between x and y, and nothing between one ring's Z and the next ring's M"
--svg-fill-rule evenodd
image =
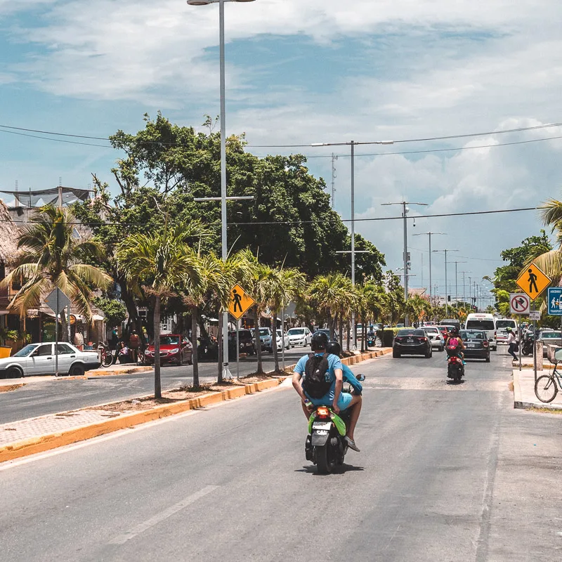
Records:
M307 348L295 348L285 353L285 364L291 365L306 353ZM200 379L203 382L215 381L218 375L216 363L200 363ZM263 369L273 370L273 355L263 354ZM236 375L235 363L230 364L233 376ZM240 374L256 372L256 360L240 361ZM164 365L161 370L162 389L178 388L192 384L193 370L189 365L176 367ZM76 410L119 400L129 400L154 391L154 371L92 377L86 380L45 381L28 384L15 391L0 393L0 424L18 419L44 416Z

